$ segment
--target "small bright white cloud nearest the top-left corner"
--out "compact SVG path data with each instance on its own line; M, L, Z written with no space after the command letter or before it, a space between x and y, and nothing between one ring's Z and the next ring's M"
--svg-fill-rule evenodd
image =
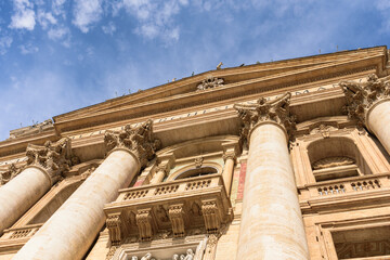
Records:
M34 30L36 14L34 4L28 0L14 0L15 13L11 17L10 28Z

